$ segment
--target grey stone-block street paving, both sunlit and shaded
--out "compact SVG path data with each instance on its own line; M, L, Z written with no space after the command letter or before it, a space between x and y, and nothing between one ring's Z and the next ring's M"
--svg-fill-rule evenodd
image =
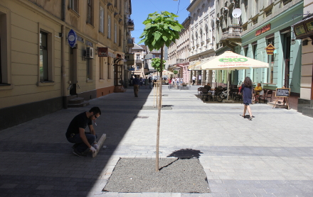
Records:
M242 104L203 103L197 88L164 86L162 105L171 109L161 111L159 155L198 157L212 193L102 191L120 157L155 157L154 92L139 89L135 98L128 89L1 130L0 196L313 196L313 118L255 104L249 121L238 116ZM107 134L107 148L75 157L65 130L92 106L102 109L95 129Z

